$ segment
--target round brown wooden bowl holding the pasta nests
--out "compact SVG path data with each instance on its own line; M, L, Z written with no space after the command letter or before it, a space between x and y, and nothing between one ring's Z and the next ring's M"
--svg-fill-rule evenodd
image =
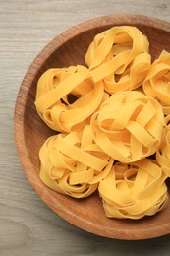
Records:
M39 179L38 151L54 131L38 117L34 99L40 75L51 67L85 65L85 52L94 35L113 26L132 25L145 33L155 59L162 49L170 51L170 23L141 15L110 15L79 24L56 36L33 60L22 82L14 115L15 140L19 158L29 182L40 198L59 216L86 231L118 239L145 239L170 232L170 203L153 217L138 221L105 217L102 202L95 193L76 200L58 194Z

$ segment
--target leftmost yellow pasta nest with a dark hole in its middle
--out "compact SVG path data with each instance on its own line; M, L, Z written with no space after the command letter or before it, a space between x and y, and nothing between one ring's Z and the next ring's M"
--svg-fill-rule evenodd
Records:
M105 97L102 81L94 83L88 69L78 65L47 70L38 81L35 105L50 128L71 132L84 127Z

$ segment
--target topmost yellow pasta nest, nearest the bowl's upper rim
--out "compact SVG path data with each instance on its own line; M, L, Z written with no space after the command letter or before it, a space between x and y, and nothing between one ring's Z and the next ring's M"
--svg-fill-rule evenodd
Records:
M94 81L113 94L140 87L150 68L149 43L136 27L120 26L94 37L85 55Z

